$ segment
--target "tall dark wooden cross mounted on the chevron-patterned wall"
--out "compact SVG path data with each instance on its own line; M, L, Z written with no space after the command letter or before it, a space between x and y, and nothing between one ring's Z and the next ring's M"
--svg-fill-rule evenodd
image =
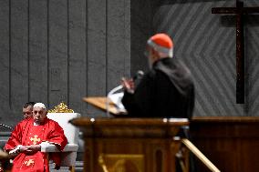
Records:
M244 103L244 44L243 15L259 13L259 7L243 7L243 2L236 0L236 7L214 7L212 14L233 14L236 18L236 103Z

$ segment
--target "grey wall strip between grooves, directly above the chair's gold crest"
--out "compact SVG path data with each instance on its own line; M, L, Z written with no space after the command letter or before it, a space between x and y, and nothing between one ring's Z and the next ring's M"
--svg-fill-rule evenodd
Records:
M50 0L48 6L48 94L47 104L67 104L67 1Z

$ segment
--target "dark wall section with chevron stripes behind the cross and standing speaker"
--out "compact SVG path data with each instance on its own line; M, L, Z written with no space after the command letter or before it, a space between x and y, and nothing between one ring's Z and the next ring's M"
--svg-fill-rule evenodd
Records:
M243 3L259 6L255 0ZM245 104L236 104L235 17L213 15L212 7L221 6L233 7L235 0L131 4L131 70L147 64L142 56L146 39L167 33L174 40L175 56L190 67L195 80L194 116L258 116L259 15L244 16Z

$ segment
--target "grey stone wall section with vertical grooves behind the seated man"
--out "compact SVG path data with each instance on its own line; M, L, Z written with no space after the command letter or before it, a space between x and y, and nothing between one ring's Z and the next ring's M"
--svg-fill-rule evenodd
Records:
M82 98L106 96L130 76L127 0L3 0L0 31L5 125L21 120L27 101L64 101L82 116L103 116Z

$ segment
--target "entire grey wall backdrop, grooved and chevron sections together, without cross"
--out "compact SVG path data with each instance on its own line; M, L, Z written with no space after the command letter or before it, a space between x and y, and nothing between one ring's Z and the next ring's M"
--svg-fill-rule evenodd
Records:
M15 126L27 101L105 116L82 97L106 96L121 76L146 71L145 44L157 32L171 35L192 71L194 116L258 116L259 16L245 17L246 103L237 105L235 20L212 15L217 6L235 0L1 0L1 123Z

